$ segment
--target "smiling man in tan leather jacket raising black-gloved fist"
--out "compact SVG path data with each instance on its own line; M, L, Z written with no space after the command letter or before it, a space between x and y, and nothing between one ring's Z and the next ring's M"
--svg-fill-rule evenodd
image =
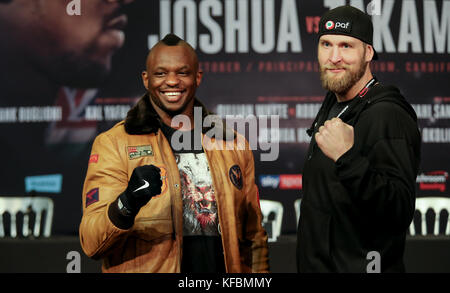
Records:
M228 133L221 123L191 127L194 113L209 114L195 98L202 72L194 49L167 35L142 78L148 93L92 146L84 252L103 259L103 272L268 272L248 143L235 132L208 135Z

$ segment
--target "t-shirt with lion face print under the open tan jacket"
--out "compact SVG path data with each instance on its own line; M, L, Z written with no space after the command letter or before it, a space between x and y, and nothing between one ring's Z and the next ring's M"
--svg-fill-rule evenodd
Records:
M161 126L164 136L172 146L171 138L176 130L165 124ZM172 147L180 172L183 200L181 272L224 273L219 213L210 166L203 149L194 147L193 131L187 135L191 136L191 148L175 151ZM198 143L201 145L201 142Z

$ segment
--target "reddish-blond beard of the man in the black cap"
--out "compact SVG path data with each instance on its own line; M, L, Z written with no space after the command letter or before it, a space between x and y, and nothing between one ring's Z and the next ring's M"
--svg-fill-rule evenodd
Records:
M320 66L320 81L322 82L322 87L326 90L332 91L333 93L337 95L345 95L352 87L355 85L361 77L366 72L367 64L369 62L366 62L364 60L365 56L365 50L363 57L361 58L361 64L360 67L357 69L356 72L348 72L348 67L344 67L346 69L346 72L344 73L344 76L342 78L338 79L331 79L328 78L327 75L327 68L326 66Z

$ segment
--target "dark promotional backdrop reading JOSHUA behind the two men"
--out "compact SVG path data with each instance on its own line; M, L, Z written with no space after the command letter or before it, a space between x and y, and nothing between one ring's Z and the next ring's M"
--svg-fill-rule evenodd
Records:
M255 182L260 198L281 202L282 232L295 233L293 203L302 196L302 168L309 144L306 129L325 95L317 64L318 23L324 12L342 4L372 15L374 47L379 54L372 70L382 83L396 85L417 112L422 133L417 196L450 196L450 1L437 0L134 1L120 10L128 17L125 43L113 53L105 51L112 63L107 74L98 70L106 77L98 82L92 82L95 68L83 73L87 67L83 59L55 55L54 38L48 38L49 49L40 45L42 50L28 52L23 46L26 42L19 38L45 42L46 37L19 34L19 26L3 26L0 148L6 164L1 168L1 195L51 196L55 201L53 233L76 234L92 142L98 133L123 119L144 94L141 72L148 50L173 32L198 53L204 78L197 97L224 118L256 118ZM5 5L0 4L0 11ZM62 28L71 21L65 34L72 41L82 39L84 33L77 31L94 13L88 1L81 1L81 15L68 15L66 7L61 7L52 11L60 16L52 18L53 25ZM50 12L40 17L45 23ZM117 26L120 21L108 23ZM31 54L39 57L39 62L30 62L36 64L39 70L33 73L38 74L22 66ZM71 66L57 66L67 60ZM47 75L41 70L45 64L59 71ZM72 70L83 74L70 75ZM68 82L58 78L67 74ZM43 83L52 90L43 90ZM279 117L278 149L276 138L270 138L270 129L263 123L266 115ZM264 144L267 141L270 148ZM264 161L262 154L269 152L277 154L276 159Z

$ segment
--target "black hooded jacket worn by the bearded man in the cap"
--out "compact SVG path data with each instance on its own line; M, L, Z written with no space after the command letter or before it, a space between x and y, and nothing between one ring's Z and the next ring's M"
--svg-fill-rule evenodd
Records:
M340 116L354 127L354 145L335 163L314 140L334 103L329 92L308 130L298 270L364 273L375 251L382 272L403 272L420 162L417 116L396 87L376 84Z

